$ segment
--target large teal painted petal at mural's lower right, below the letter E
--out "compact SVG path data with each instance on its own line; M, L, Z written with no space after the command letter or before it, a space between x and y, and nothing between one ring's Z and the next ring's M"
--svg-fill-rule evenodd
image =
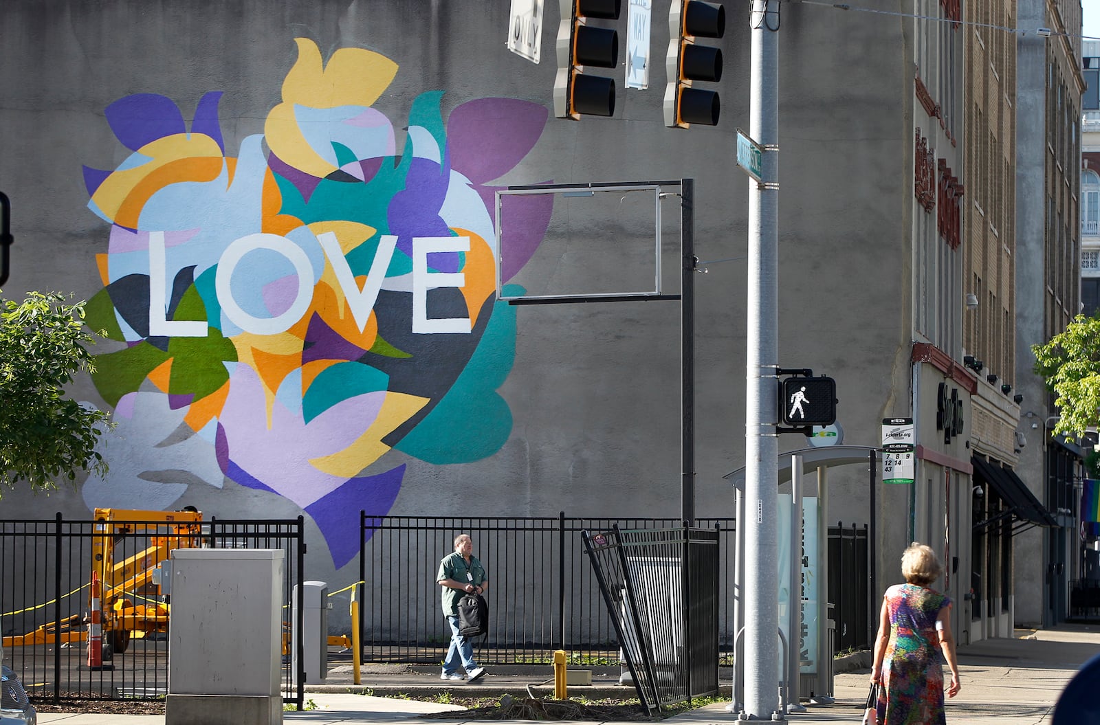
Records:
M521 294L516 285L505 290ZM512 410L496 388L515 362L516 308L497 301L462 374L395 448L433 464L471 463L499 451L512 435Z

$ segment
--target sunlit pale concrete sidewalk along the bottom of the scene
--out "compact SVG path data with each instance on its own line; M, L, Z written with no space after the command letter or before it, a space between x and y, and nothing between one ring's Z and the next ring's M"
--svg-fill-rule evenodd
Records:
M1016 630L1016 637L991 639L959 647L959 668L963 691L947 701L947 722L952 725L1033 725L1049 723L1058 695L1077 669L1100 653L1100 626L1063 625L1056 629ZM538 685L552 677L550 668L527 673L492 674L490 668L482 681L474 684L455 683L448 688L440 682L437 670L424 672L403 671L404 668L363 668L363 684L354 685L351 667L338 664L330 668L326 685L307 685L306 700L317 704L317 710L288 712L287 723L329 725L336 723L432 723L454 725L453 721L426 721L426 713L462 710L455 705L425 703L415 700L380 697L359 692L405 692L420 694L450 689L455 694L499 695L505 691L522 693L526 686ZM796 725L818 723L858 723L867 697L868 670L837 674L834 680L836 702L828 705L804 703L805 713L791 713L788 721ZM601 691L612 689L620 695L634 696L632 688L613 683L605 674L594 678L594 686L569 689L571 696L605 696ZM728 692L728 682L723 683ZM1098 688L1100 689L1100 688ZM350 692L351 691L351 692ZM624 692L625 691L625 692ZM552 694L552 688L538 686L536 694ZM481 723L486 721L465 721ZM527 721L488 721L492 723ZM735 716L718 703L678 715L667 721L674 725L694 723L732 723ZM57 725L163 725L164 715L94 715L76 713L47 713L38 715L38 723ZM196 724L200 725L200 724Z

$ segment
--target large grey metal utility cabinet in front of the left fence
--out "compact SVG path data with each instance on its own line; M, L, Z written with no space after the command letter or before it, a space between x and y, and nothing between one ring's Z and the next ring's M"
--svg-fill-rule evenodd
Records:
M273 725L279 692L280 549L174 549L165 725Z

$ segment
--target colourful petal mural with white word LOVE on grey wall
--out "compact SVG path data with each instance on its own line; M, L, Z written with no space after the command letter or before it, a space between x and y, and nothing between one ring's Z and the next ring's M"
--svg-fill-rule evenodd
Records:
M340 568L359 550L359 510L384 515L397 497L405 465L387 452L470 462L512 431L496 388L515 311L496 300L490 183L530 152L548 113L484 98L444 121L442 91L424 92L398 153L373 107L398 66L361 48L326 64L296 42L282 103L235 157L220 92L189 129L165 96L106 110L131 153L85 168L88 206L111 224L88 321L119 343L92 375L118 427L103 441L110 474L82 495L92 508L167 509L230 479L299 506ZM551 207L525 196L509 209L502 281L541 242Z

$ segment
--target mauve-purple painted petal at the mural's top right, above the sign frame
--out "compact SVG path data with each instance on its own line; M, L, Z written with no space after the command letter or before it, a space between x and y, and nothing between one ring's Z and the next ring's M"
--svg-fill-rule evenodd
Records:
M504 176L535 147L549 112L515 98L480 98L453 111L447 121L451 167L474 184Z

